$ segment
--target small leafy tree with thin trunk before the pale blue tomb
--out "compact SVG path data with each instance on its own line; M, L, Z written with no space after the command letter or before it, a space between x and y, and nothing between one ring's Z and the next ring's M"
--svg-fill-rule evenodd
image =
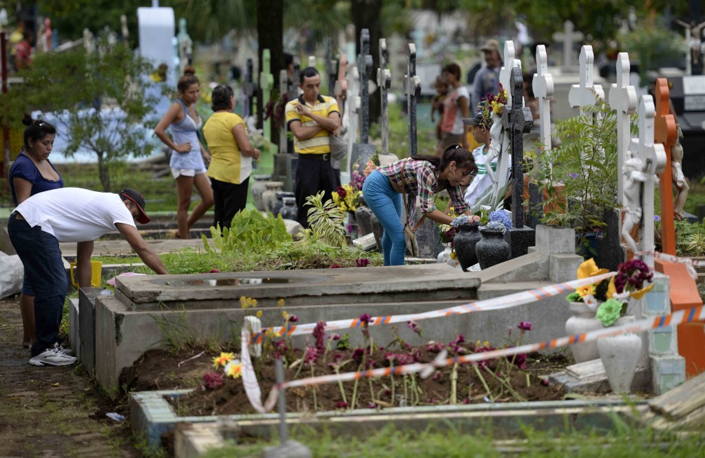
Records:
M97 156L103 189L110 191L110 168L129 155L146 156L145 130L157 97L148 95L153 83L152 64L135 56L125 44L99 52L84 49L35 55L31 68L22 70L25 84L0 97L4 123L17 123L22 113L39 110L53 114L56 128L68 137L65 156L79 150Z

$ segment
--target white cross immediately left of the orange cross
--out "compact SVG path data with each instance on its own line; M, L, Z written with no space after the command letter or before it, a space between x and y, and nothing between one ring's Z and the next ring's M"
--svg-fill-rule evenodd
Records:
M654 189L658 180L656 175L663 173L666 168L666 150L663 149L663 144L654 144L654 112L654 99L650 95L642 95L639 101L639 139L632 138L629 144L632 157L642 161L641 172L646 175L640 193L642 218L639 223L639 249L642 252L651 252L654 249ZM630 202L629 196L625 196L625 200ZM627 213L630 210L627 209ZM645 254L642 260L654 268L653 254Z

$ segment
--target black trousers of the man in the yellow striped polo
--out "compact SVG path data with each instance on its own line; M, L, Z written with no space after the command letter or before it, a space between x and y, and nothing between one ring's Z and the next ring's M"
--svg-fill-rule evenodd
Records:
M307 213L310 206L306 205L306 198L323 191L323 202L326 202L331 199L331 192L336 190L337 183L340 182L331 166L331 161L309 159L306 156L306 154L299 154L294 182L294 197L299 209L296 220L304 228L309 227Z

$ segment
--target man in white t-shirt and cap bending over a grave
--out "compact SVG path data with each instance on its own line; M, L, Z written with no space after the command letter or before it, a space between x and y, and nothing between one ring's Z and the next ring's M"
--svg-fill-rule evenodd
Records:
M112 194L63 187L35 194L12 212L8 221L10 240L35 290L37 338L30 364L64 366L76 361L57 339L68 290L59 242L77 242L79 287L90 286L93 240L116 229L149 268L168 273L159 256L142 239L135 221L149 223L149 217L145 198L131 189Z

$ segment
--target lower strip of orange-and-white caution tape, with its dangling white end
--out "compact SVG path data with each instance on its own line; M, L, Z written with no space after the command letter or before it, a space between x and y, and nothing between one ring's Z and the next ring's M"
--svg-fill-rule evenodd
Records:
M414 364L405 364L403 366L390 366L386 368L381 368L381 369L369 369L368 371L357 371L357 372L348 372L348 373L341 373L341 374L331 374L327 376L318 376L318 377L308 377L308 378L300 378L298 380L290 380L285 383L281 383L281 385L274 385L274 387L271 389L269 392L269 397L267 398L266 404L262 406L262 403L259 401L259 397L261 397L260 391L259 391L259 385L257 385L257 390L252 390L252 396L250 396L250 392L247 393L247 397L250 399L250 402L252 402L252 406L257 409L260 413L265 413L267 411L271 411L272 407L274 407L274 402L276 402L276 398L278 397L278 392L280 390L284 390L286 388L295 388L295 387L300 387L300 386L312 386L312 385L321 385L324 383L336 383L336 382L345 382L345 381L351 381L351 380L357 380L360 378L374 378L374 377L384 377L384 376L403 376L411 373L419 373L424 370L427 371L427 373L432 373L432 371L429 371L429 369L436 369L439 367L443 366L450 366L451 364L462 364L462 363L476 363L479 361L486 361L488 359L497 359L501 357L509 357L515 354L520 354L520 353L529 353L529 352L537 352L539 350L543 349L549 349L549 348L558 348L558 347L567 347L568 345L576 344L576 343L583 343L583 342L590 342L592 340L597 340L599 338L604 338L604 337L610 337L610 336L615 336L615 335L622 335L622 334L627 334L627 333L641 333L645 330L650 330L650 329L656 329L656 328L661 328L665 326L677 326L680 324L685 324L685 323L690 323L692 321L705 321L705 309L704 307L693 307L692 309L687 309L687 310L680 310L676 311L673 314L669 315L663 315L663 316L656 316L655 318L644 318L639 321L633 321L632 323L627 323L623 326L612 326L608 328L603 328L599 330L592 330L589 331L588 333L582 333L582 334L577 334L577 335L568 335L562 338L556 338L552 340L546 340L545 342L538 342L538 343L533 343L533 344L527 344L527 345L520 345L519 347L510 347L510 348L503 348L503 349L496 349L492 350L490 352L482 352L482 353L473 353L473 354L466 354L462 356L456 356L452 358L446 358L446 359L436 359L431 363L414 363ZM257 384L257 378L255 376L254 371L252 371L252 363L250 361L250 354L247 351L247 344L245 342L248 342L250 340L250 332L246 328L243 328L243 352L242 352L242 359L243 359L243 382L245 381L245 378L248 378L250 381L254 380L255 385ZM245 364L245 361L247 361L247 364ZM248 374L248 368L249 371L251 372ZM254 388L254 385L245 385L245 390L247 390L248 386L250 388ZM255 402L253 402L253 397L257 395Z

